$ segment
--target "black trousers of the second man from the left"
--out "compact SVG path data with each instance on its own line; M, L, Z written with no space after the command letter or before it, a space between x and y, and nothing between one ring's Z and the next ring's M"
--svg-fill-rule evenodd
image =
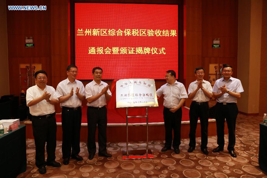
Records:
M74 110L75 109L75 110ZM70 158L80 153L80 130L82 109L62 107L62 158ZM72 149L72 150L71 150Z

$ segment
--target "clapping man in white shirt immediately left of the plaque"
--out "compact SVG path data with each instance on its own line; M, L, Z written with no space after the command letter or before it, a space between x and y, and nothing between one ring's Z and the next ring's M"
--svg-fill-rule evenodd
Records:
M96 125L98 126L98 156L111 157L107 153L107 101L111 98L109 85L101 81L103 70L93 68L94 80L85 86L87 103L88 141L87 148L89 159L96 154Z

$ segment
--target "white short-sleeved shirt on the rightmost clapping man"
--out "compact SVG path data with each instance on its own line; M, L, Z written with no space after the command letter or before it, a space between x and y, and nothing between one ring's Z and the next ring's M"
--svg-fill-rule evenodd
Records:
M230 77L230 79L226 82L224 78L216 80L212 92L221 93L218 88L225 85L225 87L234 93L241 93L244 91L241 81L239 79ZM219 103L237 103L237 98L229 95L228 93L224 93L222 96L216 99Z

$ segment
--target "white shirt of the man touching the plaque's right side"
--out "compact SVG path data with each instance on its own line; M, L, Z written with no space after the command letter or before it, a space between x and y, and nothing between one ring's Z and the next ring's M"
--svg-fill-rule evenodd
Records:
M157 96L160 97L162 94L164 95L163 106L170 109L177 107L181 98L188 98L185 86L177 82L177 80L175 80L173 85L168 83L162 85L157 90Z

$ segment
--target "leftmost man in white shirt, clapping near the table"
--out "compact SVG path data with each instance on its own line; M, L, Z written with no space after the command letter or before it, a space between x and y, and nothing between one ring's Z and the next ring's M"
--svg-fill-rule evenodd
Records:
M56 132L55 104L58 95L55 89L47 84L47 73L43 70L34 74L36 85L26 92L27 106L32 115L32 130L35 142L35 164L40 174L46 173L45 166L59 167L55 162ZM47 159L45 162L45 142Z

